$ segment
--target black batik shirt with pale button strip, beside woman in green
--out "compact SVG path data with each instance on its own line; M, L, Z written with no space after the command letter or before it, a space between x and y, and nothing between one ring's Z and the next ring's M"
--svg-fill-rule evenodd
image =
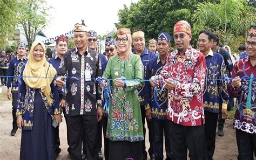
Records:
M77 48L65 53L60 62L58 75L66 75L66 116L96 115L97 107L102 106L102 89L95 81L102 76L99 54L87 48L80 54ZM90 78L85 77L89 75Z

